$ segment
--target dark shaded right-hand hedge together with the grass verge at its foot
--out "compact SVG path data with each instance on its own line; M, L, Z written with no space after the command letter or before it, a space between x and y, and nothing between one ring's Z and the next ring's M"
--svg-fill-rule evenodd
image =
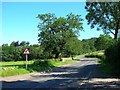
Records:
M120 39L113 40L113 43L105 50L86 54L85 57L98 58L102 72L106 75L120 76Z

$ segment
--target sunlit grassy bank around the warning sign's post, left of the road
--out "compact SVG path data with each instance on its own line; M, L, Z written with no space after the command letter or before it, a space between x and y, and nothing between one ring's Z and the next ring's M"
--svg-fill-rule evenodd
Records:
M54 68L58 66L62 66L65 64L69 64L75 62L79 59L74 60L65 60L59 61L54 59L48 60L32 60L28 61L28 69L25 69L25 61L18 61L18 62L0 62L0 67L2 67L1 76L13 76L13 75L20 75L20 74L27 74L31 72L38 72L43 71L49 68Z

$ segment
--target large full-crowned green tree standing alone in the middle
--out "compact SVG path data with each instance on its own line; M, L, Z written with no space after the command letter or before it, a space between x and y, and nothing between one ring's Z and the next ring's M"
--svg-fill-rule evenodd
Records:
M68 14L66 17L56 17L54 14L39 14L38 41L44 47L44 51L54 54L58 58L69 38L79 35L83 30L80 15Z

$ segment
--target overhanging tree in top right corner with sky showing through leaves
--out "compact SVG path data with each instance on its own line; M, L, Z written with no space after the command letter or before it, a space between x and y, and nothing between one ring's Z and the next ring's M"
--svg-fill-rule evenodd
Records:
M117 39L120 29L120 2L86 2L86 19L91 28L97 26L105 33L112 33Z

